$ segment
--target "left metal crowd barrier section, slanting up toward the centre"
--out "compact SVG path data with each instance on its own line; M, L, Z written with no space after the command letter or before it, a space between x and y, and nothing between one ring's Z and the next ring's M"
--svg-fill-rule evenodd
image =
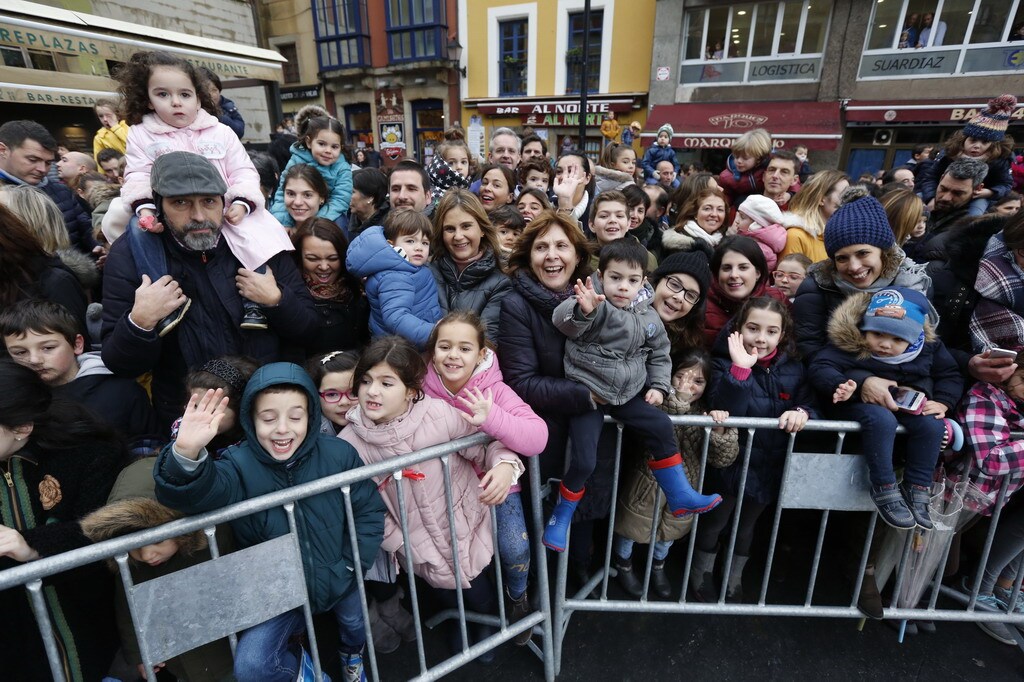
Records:
M359 560L354 519L352 517L350 486L357 481L373 476L394 476L398 484L398 507L402 537L410 546L407 502L401 472L407 467L427 460L439 459L444 472L444 496L447 503L449 521L452 525L453 555L459 556L459 540L455 531L455 512L452 500L452 478L449 458L456 452L471 445L489 441L484 434L475 434L443 445L428 447L416 453L394 457L387 462L359 467L319 480L297 485L270 495L247 500L214 512L191 516L165 525L90 545L72 552L39 559L0 572L0 590L25 586L29 593L36 623L43 638L47 659L53 679L63 682L65 676L60 655L53 636L52 624L42 594L42 581L50 576L79 566L115 559L119 566L121 581L128 597L129 609L139 643L139 650L146 671L153 670L154 663L188 651L207 642L227 636L230 638L231 652L234 652L234 633L262 623L279 613L301 607L305 616L306 635L316 679L322 679L321 660L313 631L312 612L309 607L305 578L302 569L301 548L295 527L294 504L297 500L340 489L344 496L348 512L348 530L352 554L355 557L355 574L359 591L362 617L366 624L367 649L364 660L372 679L384 679L377 659L370 632L370 614L364 587L364 571ZM530 532L537 573L547 574L547 556L541 545L544 528L541 505L540 469L537 458L524 458L529 473L529 495L532 504ZM288 515L290 532L273 540L221 556L214 529L217 524L248 516L266 509L281 507ZM492 528L496 528L494 509L490 511ZM151 545L170 538L203 530L210 543L211 560L153 581L135 585L128 568L128 551ZM541 645L534 641L529 648L538 655L544 667L545 679L554 680L554 656L552 653L551 596L548 582L537 582L538 610L510 624L505 614L500 552L497 532L495 534L494 568L497 576L498 616L467 612L462 592L456 591L458 608L442 611L429 622L422 624L416 581L412 579L412 558L404 568L410 576L410 592L413 616L416 626L416 646L420 673L417 680L435 680L465 666L477 656L493 650L526 630L539 635ZM455 565L456 580L461 578L458 563ZM114 604L111 604L111 608ZM424 646L423 625L434 627L440 622L455 617L462 634L463 650L440 664L428 667ZM498 628L498 632L486 639L468 646L466 636L468 622L484 623ZM393 677L393 676L392 676ZM151 679L153 676L151 674Z

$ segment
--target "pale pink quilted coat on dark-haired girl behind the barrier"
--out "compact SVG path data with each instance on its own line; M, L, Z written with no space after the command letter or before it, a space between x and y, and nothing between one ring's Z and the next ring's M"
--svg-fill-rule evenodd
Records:
M348 412L349 424L340 434L355 447L367 464L383 462L431 445L438 445L476 432L461 413L443 400L430 396L414 402L401 417L387 424L374 424L358 406ZM480 430L490 433L495 413L492 412ZM452 469L456 537L459 540L459 565L462 587L469 587L486 568L494 556L494 538L487 507L479 500L480 480L473 464L490 469L502 460L514 460L516 455L507 447L470 447L449 459ZM505 465L507 466L507 465ZM521 466L521 465L519 465ZM410 471L410 469L412 471ZM439 460L429 460L407 469L404 476L406 510L409 514L409 536L412 543L413 570L433 587L456 588L453 568L452 540L444 504L444 473ZM384 542L381 549L397 552L404 567L406 551L398 518L398 494L395 481L377 479L387 507L384 520Z

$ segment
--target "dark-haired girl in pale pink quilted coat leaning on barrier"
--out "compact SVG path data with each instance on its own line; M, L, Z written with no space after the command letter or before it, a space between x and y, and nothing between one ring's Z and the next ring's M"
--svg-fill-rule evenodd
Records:
M350 442L365 463L447 443L477 429L495 437L502 435L497 430L502 411L493 409L493 400L469 394L461 398L469 410L461 412L444 400L424 395L426 372L416 347L397 336L380 337L362 352L353 373L359 403L349 411L349 424L339 437ZM449 458L449 467L462 585L456 584L456 557L439 459L404 469L400 481L393 476L376 479L387 508L381 549L397 552L402 568L407 557L411 558L413 572L436 588L449 606L455 606L455 590L461 588L467 608L490 613L494 594L483 572L494 556L487 507L505 501L523 467L516 454L500 443L461 451ZM476 467L487 472L482 479ZM404 544L399 521L399 484L404 486L410 546ZM492 632L486 627L473 629L477 641ZM461 650L461 643L454 642L454 648Z

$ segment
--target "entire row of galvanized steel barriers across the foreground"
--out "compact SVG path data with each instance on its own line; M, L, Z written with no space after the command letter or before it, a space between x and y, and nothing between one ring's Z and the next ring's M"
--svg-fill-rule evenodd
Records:
M728 576L734 559L739 513L743 504L743 489L746 485L746 476L751 464L753 435L757 429L777 429L778 422L774 419L730 418L724 424L717 424L708 417L686 416L672 417L671 419L676 425L699 426L705 429L703 446L700 454L701 483L707 469L708 449L712 428L716 426L736 427L745 430L748 433L746 445L740 454L742 459L737 460L741 467L742 475L738 491L738 502L734 511L734 518L725 554L723 572L725 576ZM607 421L611 422L610 419ZM438 679L465 666L477 656L501 646L516 635L526 630L531 630L535 633L535 640L540 640L540 645L536 641L531 641L529 648L539 657L539 664L543 666L545 679L549 681L553 680L561 666L563 637L572 613L577 611L862 617L856 604L864 572L868 565L872 538L876 537L878 514L873 513L874 505L867 495L866 465L857 455L842 454L843 443L847 434L857 432L859 429L860 426L856 422L817 420L808 422L803 433L818 432L836 434L836 446L827 452L798 451L795 449L796 436L790 436L785 453L781 489L772 519L764 576L761 579L758 599L754 603L726 603L725 589L721 590L719 600L714 603L694 602L688 599L686 586L689 583L689 576L692 569L696 529L700 522L699 516L693 518L693 524L689 529L689 541L679 599L672 601L650 600L648 598L648 591L650 589L654 540L656 538L657 517L659 514L655 514L654 518L652 518L646 568L642 580L643 594L639 599L609 598L609 579L615 574L615 569L611 565L611 552L616 513L615 501L618 497L618 474L623 456L622 425L617 425L616 430L614 487L611 496L611 508L609 509L607 547L604 552L603 565L597 572L590 577L582 589L575 594L569 595L566 593L568 552L563 552L558 557L554 594L550 594L547 580L547 553L541 545L544 516L539 463L537 458L526 459L528 494L531 502L529 505L530 518L527 519L527 522L531 534L530 542L534 548L532 561L536 566L536 576L538 579L536 580L535 588L538 604L536 610L532 610L527 616L514 624L510 624L506 617L503 599L501 557L496 531L497 519L492 509L492 529L495 530L496 536L493 565L497 579L496 587L499 613L497 616L494 616L467 611L462 593L457 590L457 608L441 611L424 623L421 619L420 597L417 593L416 581L411 579L410 597L416 625L416 646L419 663L419 674L415 679ZM345 507L348 512L348 530L352 553L355 557L354 569L356 583L358 585L359 602L367 629L367 654L365 659L368 662L371 677L376 680L384 679L387 677L386 671L382 672L381 670L380 662L378 662L374 650L373 638L370 634L370 614L364 587L364 571L361 562L359 561L354 520L351 514L350 485L374 476L391 475L394 477L398 485L399 521L402 537L406 545L409 546L409 515L402 470L427 460L439 459L444 472L444 494L450 526L452 528L453 555L458 556L459 540L455 532L455 512L452 500L449 458L461 450L471 445L482 444L488 440L487 436L476 434L451 443L398 456L386 462L359 467L358 469L329 476L310 483L247 500L214 512L179 519L156 528L29 562L0 572L0 590L18 586L24 586L28 590L54 680L60 681L65 678L59 652L52 634L52 624L50 623L43 599L42 581L50 576L110 558L114 558L119 566L120 578L128 596L128 603L145 670L153 670L155 662L165 660L203 643L215 641L223 637L229 637L233 653L234 633L262 623L278 613L301 607L305 617L310 653L318 679L321 660L317 652L315 633L312 627L312 612L309 607L302 570L301 548L295 528L294 504L297 500L332 489L340 489L344 496ZM697 487L699 488L700 485L698 484ZM1007 486L1004 485L999 491L992 513L991 524L985 538L979 566L984 566L987 562L992 541L998 526L999 516L1006 503L1007 489ZM657 495L658 500L656 501L655 509L660 510L664 499L660 491L658 491ZM278 507L283 508L288 515L291 528L290 534L230 554L221 555L219 553L214 535L217 524ZM782 512L795 509L819 510L821 512L811 560L811 571L802 603L776 603L769 600L768 592L772 568L774 567L779 527ZM825 531L828 526L829 514L836 511L871 512L870 517L866 521L866 535L858 562L857 574L852 582L852 596L849 605L841 606L814 603ZM196 530L203 530L209 539L211 555L213 557L210 561L139 585L133 583L128 567L128 551ZM886 531L897 532L888 527ZM902 532L905 538L899 539L899 542L902 543L902 551L899 568L896 573L895 594L899 594L903 582L907 579L908 558L913 551L914 544L920 542L922 538L920 532ZM925 532L924 535L927 536L928 534ZM968 621L1024 625L1024 613L1005 613L989 609L978 603L978 592L981 585L980 569L977 571L977 577L973 582L970 594L963 594L942 586L942 567L945 564L948 552L949 547L946 546L938 568L934 574L928 577L931 590L927 605L923 607L901 606L887 608L885 610L887 619ZM407 555L403 569L409 576L413 576L411 554ZM461 581L461 568L458 562L456 562L454 569L456 580ZM268 588L267 584L255 580L256 576L272 577L275 581L272 589ZM1018 570L1013 595L1010 600L1011 603L1016 602L1017 596L1020 593L1022 578L1024 578L1024 571ZM197 586L203 585L207 586L207 588L202 590L197 589ZM600 588L599 590L598 587ZM595 590L597 590L597 594L596 596L592 596ZM937 599L940 594L963 603L965 608L939 608L937 606ZM246 608L240 610L238 608L238 604L240 603L245 604ZM202 613L202 617L200 617L200 613ZM422 626L434 627L447 619L456 619L458 622L457 626L462 635L463 650L438 665L428 666ZM469 645L467 623L492 625L498 631L483 641Z

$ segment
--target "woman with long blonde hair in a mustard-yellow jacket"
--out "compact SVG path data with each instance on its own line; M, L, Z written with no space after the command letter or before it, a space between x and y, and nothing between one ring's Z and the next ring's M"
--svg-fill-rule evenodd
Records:
M843 193L850 186L850 178L838 170L818 171L790 201L790 213L800 224L785 230L785 247L778 254L802 253L816 263L828 257L825 252L825 222L842 203Z

